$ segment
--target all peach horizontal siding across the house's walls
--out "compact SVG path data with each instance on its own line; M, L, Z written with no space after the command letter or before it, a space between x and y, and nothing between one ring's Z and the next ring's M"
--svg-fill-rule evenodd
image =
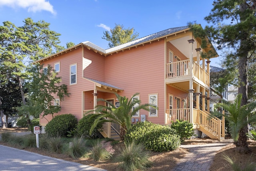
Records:
M146 115L148 121L165 124L165 96L167 98L166 106L168 106L168 93L180 97L180 99L186 99L187 93L170 86L166 86L166 91L164 89L164 66L166 64L164 41L162 39L106 57L87 48L84 48L84 50L78 48L43 62L45 65L50 64L52 66L56 62L60 62L59 76L62 77L62 84L68 85L70 96L65 97L65 100L60 102L62 109L58 114L72 113L77 119L81 119L83 110L93 109L94 83L83 79L82 75L84 74L84 77L103 81L124 89L124 91L118 93L128 98L138 92L142 103L149 103L149 95L156 94L158 96L158 116L150 117L149 112L144 110L140 111L140 115ZM168 42L166 54L169 54L169 49L172 50L174 56L178 56L181 60L187 59ZM72 64L77 64L77 84L74 85L70 85L70 65ZM114 99L114 103L116 102L114 93L98 91L98 98ZM103 102L98 102L98 104L104 105ZM176 106L175 101L173 106ZM181 107L183 107L183 103L181 103ZM48 120L51 118L50 115L46 116ZM40 123L48 123L46 119L41 119Z

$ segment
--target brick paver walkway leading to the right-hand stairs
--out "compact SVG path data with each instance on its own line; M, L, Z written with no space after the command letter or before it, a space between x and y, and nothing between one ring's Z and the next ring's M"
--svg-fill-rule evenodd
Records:
M219 143L180 145L181 148L189 149L189 153L177 163L172 171L209 171L214 155L232 142L232 139L225 139Z

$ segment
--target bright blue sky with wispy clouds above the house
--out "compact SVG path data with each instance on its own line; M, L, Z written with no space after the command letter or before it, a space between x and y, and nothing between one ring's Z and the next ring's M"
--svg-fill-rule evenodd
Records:
M22 26L25 18L44 20L61 34L61 45L90 41L108 48L103 32L116 24L134 28L138 38L186 26L196 21L202 27L213 0L0 0L0 23ZM221 56L220 52L219 55ZM211 65L218 66L219 59Z

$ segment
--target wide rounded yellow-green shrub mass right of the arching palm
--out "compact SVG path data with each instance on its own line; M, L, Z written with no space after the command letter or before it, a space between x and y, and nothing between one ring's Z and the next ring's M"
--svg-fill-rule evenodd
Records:
M146 149L162 152L177 149L180 145L180 136L168 126L145 121L132 125L125 135L125 141L142 143Z

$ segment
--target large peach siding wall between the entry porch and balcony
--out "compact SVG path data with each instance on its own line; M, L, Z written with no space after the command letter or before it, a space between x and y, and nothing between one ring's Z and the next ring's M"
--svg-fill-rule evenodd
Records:
M158 117L144 110L140 115L164 124L164 40L108 56L105 65L106 82L124 89L120 95L130 98L138 92L142 103L149 103L149 94L158 94Z

